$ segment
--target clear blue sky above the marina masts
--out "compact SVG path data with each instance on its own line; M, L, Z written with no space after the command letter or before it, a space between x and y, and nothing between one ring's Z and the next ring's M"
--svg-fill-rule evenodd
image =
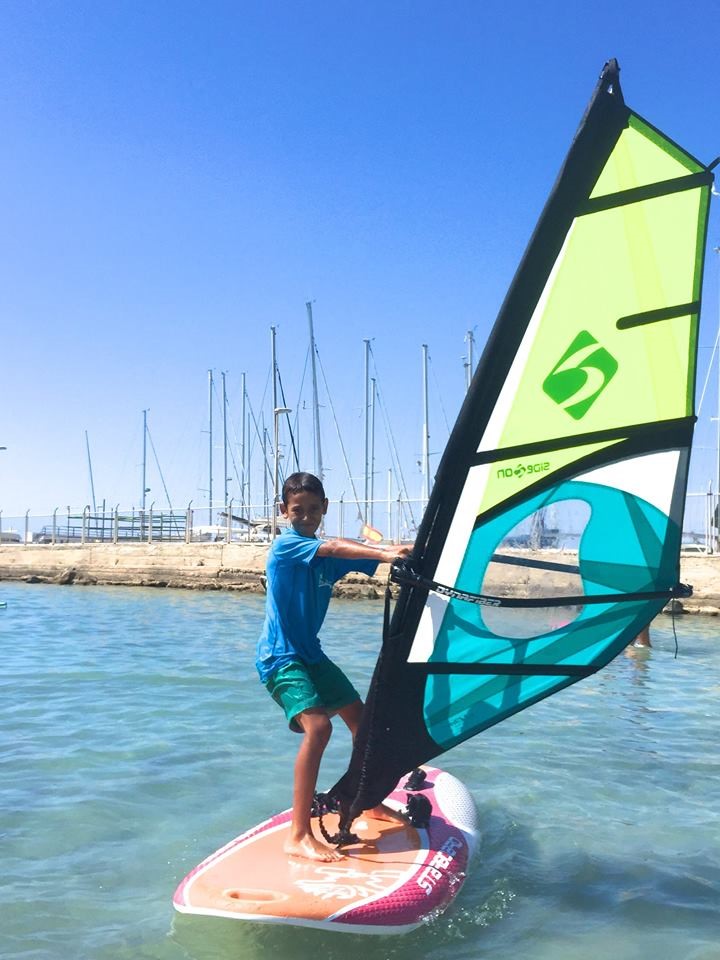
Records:
M716 23L701 13L632 0L4 0L3 517L90 502L85 431L97 500L138 505L144 409L174 505L206 505L207 371L218 387L226 371L232 439L243 372L260 413L274 324L296 408L309 299L354 475L372 338L419 493L421 345L439 454L465 334L484 343L603 63L618 58L640 114L701 160L720 154ZM719 227L716 206L701 379ZM323 417L328 492L348 497L327 402ZM309 421L300 443L311 466ZM378 414L383 492L386 449ZM148 483L166 506L152 459Z

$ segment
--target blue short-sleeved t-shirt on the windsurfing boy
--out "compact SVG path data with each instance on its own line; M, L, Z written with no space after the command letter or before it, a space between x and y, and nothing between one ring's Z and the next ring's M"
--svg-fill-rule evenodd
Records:
M319 663L325 654L318 633L333 584L353 570L372 576L377 569L376 560L319 557L321 544L290 527L270 547L265 623L256 660L263 683L292 660Z

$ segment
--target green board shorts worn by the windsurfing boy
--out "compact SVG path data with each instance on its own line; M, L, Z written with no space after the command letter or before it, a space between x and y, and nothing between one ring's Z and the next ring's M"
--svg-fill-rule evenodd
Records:
M360 699L360 694L332 660L302 663L293 660L280 667L265 684L268 693L285 711L290 729L302 733L294 718L303 710L322 708L337 713Z

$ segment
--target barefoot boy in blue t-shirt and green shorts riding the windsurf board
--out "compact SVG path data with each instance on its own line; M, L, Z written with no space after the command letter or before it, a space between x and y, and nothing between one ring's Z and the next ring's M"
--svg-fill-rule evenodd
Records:
M265 622L256 661L260 679L284 710L290 729L302 734L285 851L311 860L342 857L317 840L310 827L320 761L332 732L330 718L339 715L354 739L363 712L357 690L325 655L318 638L332 587L351 571L372 576L378 563L390 563L412 549L320 540L316 533L327 508L323 485L313 474L293 473L283 484L280 512L290 526L268 553ZM400 819L382 804L368 813L383 820Z

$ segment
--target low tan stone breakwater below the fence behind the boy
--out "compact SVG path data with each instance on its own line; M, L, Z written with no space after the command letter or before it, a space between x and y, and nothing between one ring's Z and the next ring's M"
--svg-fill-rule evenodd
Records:
M266 544L252 543L7 544L0 546L0 580L262 593L267 549ZM565 565L571 565L575 557L569 551L545 550L523 556ZM347 598L381 598L387 573L387 564L383 564L372 578L350 574L336 585L335 593ZM719 614L720 556L683 556L680 574L694 592L689 599L674 601L676 612ZM575 594L578 582L565 574L543 571L538 576L532 568L492 564L484 591L518 597ZM668 605L666 611L669 609Z

